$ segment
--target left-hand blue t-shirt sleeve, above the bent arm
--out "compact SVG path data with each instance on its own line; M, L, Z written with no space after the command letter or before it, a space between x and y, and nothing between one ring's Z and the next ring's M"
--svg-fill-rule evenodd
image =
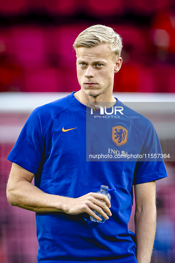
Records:
M36 174L44 155L43 131L37 108L28 117L7 160Z

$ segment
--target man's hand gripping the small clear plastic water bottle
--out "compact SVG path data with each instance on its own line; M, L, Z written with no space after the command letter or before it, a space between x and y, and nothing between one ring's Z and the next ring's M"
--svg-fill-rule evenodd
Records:
M100 200L106 203L101 202ZM63 205L63 211L67 214L77 215L80 213L88 213L90 216L94 217L98 221L102 221L91 209L97 211L105 219L109 219L106 213L109 216L112 216L110 207L110 200L107 196L98 194L98 193L88 193L78 198L67 198ZM103 210L106 212L104 212Z

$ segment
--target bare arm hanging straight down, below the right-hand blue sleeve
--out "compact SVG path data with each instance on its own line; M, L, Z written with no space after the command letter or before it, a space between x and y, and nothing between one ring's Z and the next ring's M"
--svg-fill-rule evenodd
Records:
M136 184L135 236L138 263L150 263L156 230L155 181Z

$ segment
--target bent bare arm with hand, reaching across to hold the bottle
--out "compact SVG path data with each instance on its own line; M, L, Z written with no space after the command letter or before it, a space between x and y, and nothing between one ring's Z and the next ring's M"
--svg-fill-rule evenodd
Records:
M7 199L11 205L34 212L65 212L72 215L88 213L99 221L101 219L91 208L105 219L108 219L106 213L111 216L110 201L105 195L88 193L78 198L70 198L47 194L31 184L33 177L33 173L15 163L12 164L7 183Z

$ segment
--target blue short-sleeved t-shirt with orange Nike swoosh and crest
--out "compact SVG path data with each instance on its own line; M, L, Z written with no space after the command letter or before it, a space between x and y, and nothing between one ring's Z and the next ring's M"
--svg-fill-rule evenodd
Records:
M142 153L160 150L151 122L117 101L121 105L127 116L111 118L107 151L129 154L134 140ZM162 161L86 161L86 106L73 93L35 109L7 159L34 173L35 186L49 194L77 198L101 185L116 188L110 192L112 216L104 223L91 221L87 213L36 213L37 262L137 262L128 229L132 184L166 177Z

